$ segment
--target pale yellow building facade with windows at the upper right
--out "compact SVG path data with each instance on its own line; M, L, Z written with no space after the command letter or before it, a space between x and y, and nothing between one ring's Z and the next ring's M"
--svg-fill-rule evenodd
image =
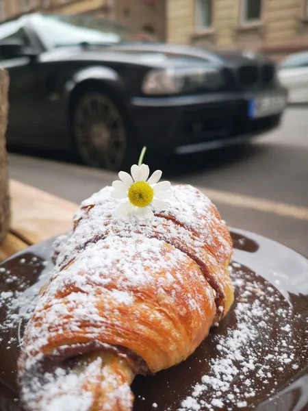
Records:
M254 49L278 60L308 50L308 0L168 0L167 38Z

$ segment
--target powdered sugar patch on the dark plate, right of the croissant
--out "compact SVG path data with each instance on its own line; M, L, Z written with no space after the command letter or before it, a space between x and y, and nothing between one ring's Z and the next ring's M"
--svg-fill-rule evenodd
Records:
M209 371L181 402L179 411L247 409L249 398L262 391L274 393L274 382L285 367L298 369L292 308L277 290L241 271L239 263L231 266L231 277L240 300L234 309L236 326L229 327L225 336L215 336L217 356L209 360ZM235 384L239 380L240 389ZM270 392L268 386L273 387Z

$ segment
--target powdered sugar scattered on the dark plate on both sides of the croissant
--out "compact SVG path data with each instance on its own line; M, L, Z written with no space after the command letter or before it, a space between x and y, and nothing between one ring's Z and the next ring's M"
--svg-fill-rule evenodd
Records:
M142 245L142 249L144 247ZM27 258L26 264L30 264L30 261L31 259ZM31 265L33 264L31 263ZM300 346L300 349L303 350L303 359L300 360L298 355L294 356L294 351L298 348L298 339L296 334L294 334L294 320L291 318L291 308L289 309L283 297L279 295L273 286L270 286L268 283L260 284L258 277L248 275L241 268L242 266L239 263L232 264L230 271L236 287L236 301L240 301L239 310L236 310L237 320L239 324L243 323L248 326L248 330L246 329L245 331L245 328L241 325L241 329L244 330L242 336L243 340L246 341L246 345L243 347L241 344L238 344L240 343L240 338L242 338L241 334L234 334L233 332L237 327L229 325L228 329L230 329L230 332L226 336L222 336L220 328L218 328L216 336L210 335L205 340L205 345L212 338L216 341L217 356L212 356L214 362L211 362L211 357L200 360L205 369L207 368L207 362L210 362L209 371L203 373L204 378L200 379L198 384L191 388L188 397L183 399L181 408L185 411L233 410L240 406L242 406L241 409L245 410L250 406L250 399L254 399L258 395L261 396L262 393L264 393L264 396L267 395L266 393L269 394L272 388L268 390L268 386L276 387L281 375L283 373L290 373L290 369L296 374L300 368L300 361L305 362L306 360L305 349L307 347L304 345ZM15 286L19 278L5 269L1 269L0 273L3 283L8 284L8 289L5 292L9 292L9 287ZM44 276L46 275L47 273L44 273ZM172 278L170 274L169 281ZM10 281L7 282L7 280ZM20 286L21 288L18 291L12 291L13 297L1 300L5 305L8 303L10 307L14 308L14 310L10 310L10 315L6 318L5 323L1 324L2 329L5 327L7 329L14 329L21 317L27 320L29 312L34 309L32 295L38 292L39 286L32 288L30 290L32 293L25 293L24 288L27 287L27 284L20 284ZM261 306L253 304L253 301L256 299L261 302ZM245 306L245 304L248 304L248 306ZM21 314L16 314L16 310L20 308L22 308ZM25 312L25 308L29 308L28 313ZM263 310L264 316L258 314L260 310ZM252 325L244 317L249 311L254 313L251 320L249 320L253 323ZM297 314L296 318L299 321L300 314ZM276 319L276 322L273 323L273 319ZM257 337L255 339L249 338L248 333L252 332L255 335L256 328ZM216 331L214 330L214 332ZM262 340L262 336L266 335L269 335L270 339L264 338ZM11 343L9 342L8 344L10 346ZM235 354L236 350L240 352ZM233 359L235 355L239 358L240 363ZM228 359L228 356L231 356L231 358ZM244 357L244 360L241 360L241 356ZM285 363L285 360L287 360L287 363ZM289 362L289 360L291 361ZM263 369L261 368L262 364L264 364ZM235 369L238 370L238 373L235 373ZM228 375L233 377L232 381L229 381ZM240 378L240 376L243 376L243 378ZM157 377L159 377L159 374L157 374ZM211 384L207 381L210 381ZM236 381L240 382L240 391L236 389ZM151 382L151 384L153 383ZM224 390L226 386L229 386L229 388ZM84 397L83 395L82 397L84 398L83 401L86 401L87 396ZM158 394L156 398L153 398L158 404L157 410L164 410L164 408L160 407L159 398ZM70 397L68 396L66 399L70 399ZM144 397L141 399L142 402L145 401ZM223 408L212 405L211 401L213 399L222 401L224 403ZM83 401L79 399L79 403L83 403ZM247 406L243 405L245 401ZM64 397L63 401L60 402L62 402L64 407ZM149 404L149 407L151 407L152 403L153 401ZM240 406L238 405L239 403ZM175 410L175 408L170 408L170 410Z

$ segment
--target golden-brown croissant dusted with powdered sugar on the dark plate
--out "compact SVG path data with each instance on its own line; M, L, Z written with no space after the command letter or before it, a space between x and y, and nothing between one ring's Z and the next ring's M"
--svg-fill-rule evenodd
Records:
M233 302L227 225L192 186L139 221L106 187L81 203L27 324L18 360L29 411L129 411L136 374L194 352Z

